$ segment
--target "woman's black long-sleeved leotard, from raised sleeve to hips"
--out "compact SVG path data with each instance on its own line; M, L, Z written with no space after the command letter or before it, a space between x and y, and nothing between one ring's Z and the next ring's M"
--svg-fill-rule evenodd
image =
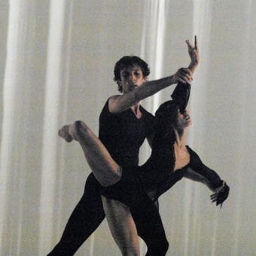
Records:
M172 123L175 122L178 108L184 111L190 95L189 84L178 84L172 93L172 100L160 105L156 112L155 135L151 157L138 167L123 166L120 181L110 187L102 187L105 197L120 200L128 206L136 203L137 194L147 194L153 191L153 199L172 187L186 175L188 169L202 176L212 188L220 187L221 178L212 169L205 166L200 157L187 146L190 162L182 169L175 168L175 133ZM152 196L151 196L152 197Z

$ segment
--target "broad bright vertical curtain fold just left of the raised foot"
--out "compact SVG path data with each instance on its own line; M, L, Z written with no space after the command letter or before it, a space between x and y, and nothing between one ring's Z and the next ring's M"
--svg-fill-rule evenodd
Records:
M59 125L59 98L62 91L62 47L66 2L50 2L49 35L47 40L47 69L45 78L44 126L41 157L41 193L38 254L53 239L55 190L58 152L56 131Z

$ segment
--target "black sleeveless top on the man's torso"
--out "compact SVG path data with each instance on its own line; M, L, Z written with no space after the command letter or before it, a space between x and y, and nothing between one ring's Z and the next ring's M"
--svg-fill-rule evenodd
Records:
M111 114L108 100L99 116L99 139L120 166L138 166L139 148L145 138L154 133L154 115L142 106L139 107L140 119L130 108Z

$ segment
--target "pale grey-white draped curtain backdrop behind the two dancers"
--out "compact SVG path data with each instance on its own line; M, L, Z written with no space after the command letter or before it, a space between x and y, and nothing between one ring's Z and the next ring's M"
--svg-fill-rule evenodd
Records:
M0 254L45 255L59 241L90 169L60 126L99 113L117 93L114 64L142 56L150 79L200 47L189 145L230 185L222 209L182 180L160 199L168 255L254 255L256 2L249 0L2 0L0 2ZM173 87L142 102L154 112ZM143 145L143 163L150 153ZM141 242L142 254L146 247ZM77 255L120 255L104 221Z

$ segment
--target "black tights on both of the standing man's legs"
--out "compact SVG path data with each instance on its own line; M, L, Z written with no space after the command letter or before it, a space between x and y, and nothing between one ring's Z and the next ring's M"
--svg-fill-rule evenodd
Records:
M148 246L147 256L165 255L169 244L159 212L146 195L142 195L130 208L139 236ZM147 212L147 214L145 214ZM84 187L84 194L66 224L58 244L48 256L71 256L99 227L105 218L99 183L91 173Z

